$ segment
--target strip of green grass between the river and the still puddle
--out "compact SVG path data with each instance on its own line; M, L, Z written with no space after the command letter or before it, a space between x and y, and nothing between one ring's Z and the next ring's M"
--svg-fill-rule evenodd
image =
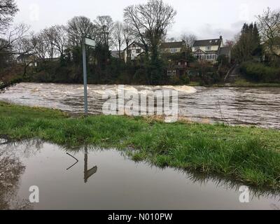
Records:
M0 137L40 138L55 144L92 144L127 151L134 160L221 174L280 189L280 132L256 127L166 124L149 118L90 116L0 102Z

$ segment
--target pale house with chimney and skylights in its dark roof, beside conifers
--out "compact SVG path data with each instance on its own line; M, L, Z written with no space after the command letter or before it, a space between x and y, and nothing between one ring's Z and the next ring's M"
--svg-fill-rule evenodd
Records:
M198 60L214 63L223 47L223 37L220 36L218 39L195 41L192 51Z

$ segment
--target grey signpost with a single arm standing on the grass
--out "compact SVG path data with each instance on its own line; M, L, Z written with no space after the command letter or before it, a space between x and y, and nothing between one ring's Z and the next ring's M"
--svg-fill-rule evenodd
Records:
M95 41L90 38L83 37L82 48L83 48L83 85L84 85L85 116L87 116L87 55L85 52L86 45L95 47Z

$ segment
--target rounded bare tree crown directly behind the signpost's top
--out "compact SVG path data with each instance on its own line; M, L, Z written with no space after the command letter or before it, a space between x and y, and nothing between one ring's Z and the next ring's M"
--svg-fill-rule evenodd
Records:
M83 36L95 39L96 27L89 18L76 16L67 23L68 43L72 46L79 46Z

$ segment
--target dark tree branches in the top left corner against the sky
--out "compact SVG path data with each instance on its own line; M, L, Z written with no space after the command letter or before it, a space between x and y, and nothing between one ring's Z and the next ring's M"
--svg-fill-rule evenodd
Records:
M0 31L10 25L16 13L18 13L18 6L14 0L0 0Z

